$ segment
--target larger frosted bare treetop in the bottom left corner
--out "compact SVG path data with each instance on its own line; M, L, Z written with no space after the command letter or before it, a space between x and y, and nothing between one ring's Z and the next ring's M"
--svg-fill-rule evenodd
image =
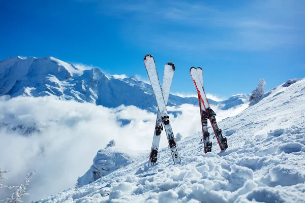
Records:
M27 177L24 181L24 185L21 184L20 186L10 186L9 188L12 190L12 194L10 198L7 198L7 203L17 203L21 201L21 198L25 195L28 195L25 193L26 191L26 186L29 184L29 179L32 178L32 176L36 173L37 171L32 172L31 174L27 174Z

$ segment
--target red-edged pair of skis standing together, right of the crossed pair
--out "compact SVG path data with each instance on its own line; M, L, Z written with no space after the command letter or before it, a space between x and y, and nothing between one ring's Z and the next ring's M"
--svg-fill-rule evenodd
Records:
M202 69L201 67L198 67L197 69L195 67L191 67L190 74L192 77L192 80L195 84L195 87L198 92L198 98L200 99L202 106L204 107L205 113L207 113L207 117L212 125L212 128L214 130L215 136L217 138L219 147L221 150L226 150L228 148L227 144L227 138L223 138L222 136L222 130L218 127L217 121L216 121L216 113L210 108L210 105L208 103L208 100L206 98L204 87L203 87L203 76L202 76ZM203 122L203 121L202 121ZM204 139L204 130L203 130L203 139ZM207 132L207 131L206 131ZM207 134L206 134L207 136ZM205 147L205 146L204 146ZM204 152L206 153L206 149Z

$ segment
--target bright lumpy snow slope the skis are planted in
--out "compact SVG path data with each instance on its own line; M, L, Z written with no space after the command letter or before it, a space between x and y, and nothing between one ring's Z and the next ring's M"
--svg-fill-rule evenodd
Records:
M164 148L150 168L146 154L38 202L305 202L304 104L305 79L284 83L219 123L228 139L225 152L214 140L212 152L203 154L198 132L178 142L180 164L173 165Z

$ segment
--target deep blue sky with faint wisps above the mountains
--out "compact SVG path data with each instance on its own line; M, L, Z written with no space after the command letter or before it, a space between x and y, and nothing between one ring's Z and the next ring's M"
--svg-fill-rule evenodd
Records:
M147 80L172 61L173 93L195 94L201 66L207 93L225 98L305 77L305 1L0 1L0 60L53 56Z

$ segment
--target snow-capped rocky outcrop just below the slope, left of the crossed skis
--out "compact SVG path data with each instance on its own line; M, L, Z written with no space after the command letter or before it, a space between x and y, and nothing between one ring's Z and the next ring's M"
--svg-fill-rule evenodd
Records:
M108 147L98 151L90 169L77 180L77 187L93 183L97 179L107 176L118 168L147 157L147 152L122 150Z

